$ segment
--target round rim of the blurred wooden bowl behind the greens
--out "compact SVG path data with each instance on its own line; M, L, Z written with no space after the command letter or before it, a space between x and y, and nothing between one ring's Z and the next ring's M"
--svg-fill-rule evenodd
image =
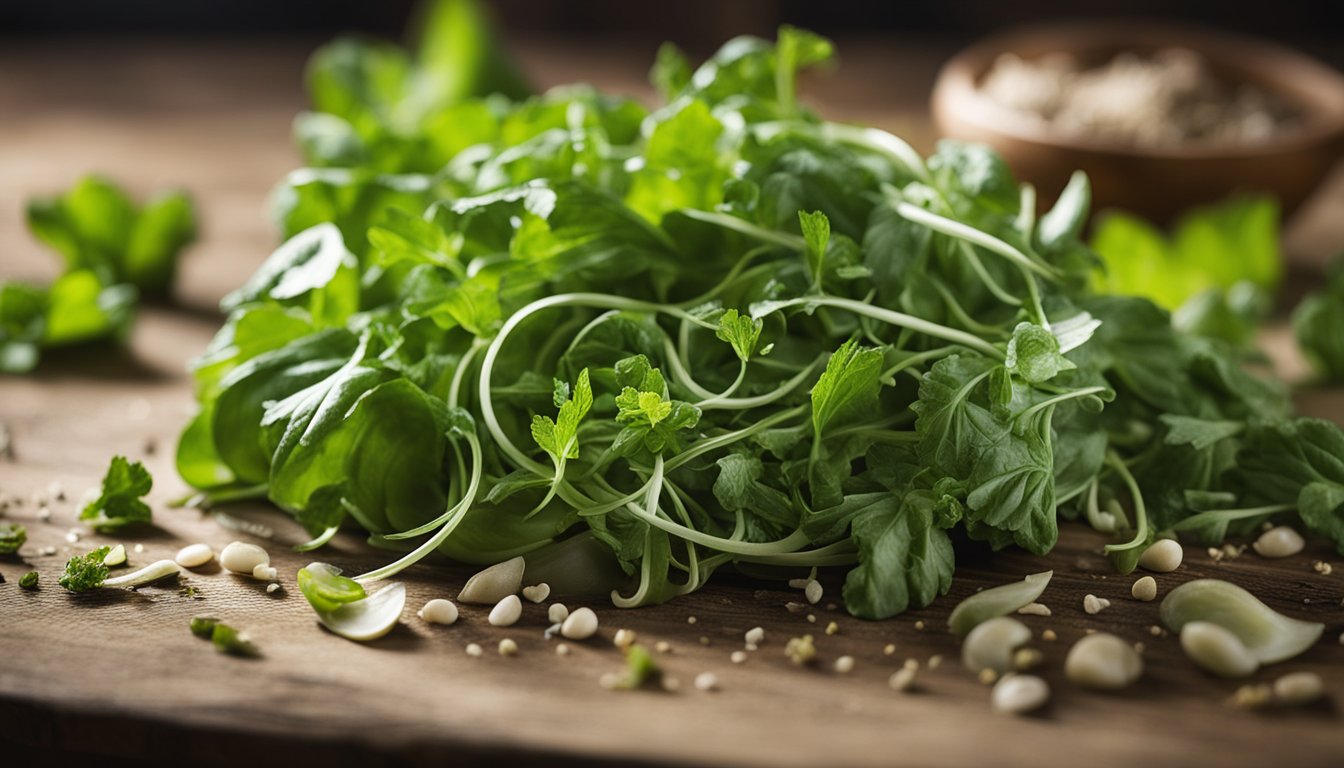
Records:
M1265 75L1270 87L1298 95L1306 89L1284 87L1288 79L1316 81L1314 87L1333 91L1333 97L1310 98L1309 109L1316 118L1301 129L1254 143L1187 143L1141 147L1117 140L1070 136L1054 132L1048 125L1034 122L1021 112L1004 106L980 90L977 81L1001 55L1023 44L1052 47L1059 52L1077 52L1105 47L1163 47L1191 48L1211 62L1254 69ZM1040 44L1047 43L1047 44ZM1228 62L1235 51L1236 61ZM1079 152L1132 159L1254 159L1285 155L1318 148L1321 144L1344 144L1344 74L1333 67L1286 46L1208 27L1184 23L1121 19L1034 23L1005 28L961 50L939 69L933 89L933 112L943 122L942 113L954 113L956 120L973 124L988 133L1039 147L1064 148Z

